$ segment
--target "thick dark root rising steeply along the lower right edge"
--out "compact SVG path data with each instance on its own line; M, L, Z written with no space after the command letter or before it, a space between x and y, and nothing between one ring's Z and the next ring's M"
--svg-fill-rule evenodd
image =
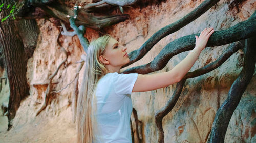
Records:
M254 73L256 62L255 45L256 37L245 40L244 67L232 84L227 99L216 113L208 143L224 142L229 121Z

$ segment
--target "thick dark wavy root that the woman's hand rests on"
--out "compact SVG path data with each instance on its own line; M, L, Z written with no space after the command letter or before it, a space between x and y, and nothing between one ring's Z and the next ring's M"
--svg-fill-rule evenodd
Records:
M206 47L225 45L254 36L256 34L255 25L256 18L251 18L226 30L215 31L209 38ZM132 67L123 71L123 73L147 74L163 69L170 58L172 58L174 55L192 50L195 47L195 35L199 36L199 33L187 35L170 42L160 51L152 62L145 65Z

